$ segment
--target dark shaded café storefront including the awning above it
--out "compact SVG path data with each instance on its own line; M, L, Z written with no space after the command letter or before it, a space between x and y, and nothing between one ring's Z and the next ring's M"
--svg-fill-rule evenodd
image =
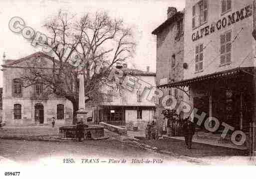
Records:
M215 117L221 124L248 132L253 117L254 71L254 67L235 68L172 83L171 87L189 87L189 101L198 115L206 113L205 120ZM217 133L223 129L220 125ZM200 130L206 130L204 125Z

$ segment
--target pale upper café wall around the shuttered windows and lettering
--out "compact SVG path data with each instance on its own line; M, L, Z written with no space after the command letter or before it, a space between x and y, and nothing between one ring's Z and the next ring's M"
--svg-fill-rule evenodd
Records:
M208 20L205 24L192 29L192 6L199 0L186 0L186 15L185 15L185 35L184 35L184 62L188 63L188 69L184 71L184 79L190 79L197 76L219 72L236 67L253 66L255 50L254 39L252 37L253 30L253 15L239 20L231 25L226 25L220 30L217 29L217 22L224 17L228 20L228 15L233 12L240 11L247 5L252 5L253 0L234 1L232 0L232 10L224 15L221 15L221 0L208 0ZM244 14L246 14L244 12ZM193 41L193 33L199 31L201 37L201 29L212 26L215 23L215 32L209 35L203 35L202 38ZM225 24L225 23L224 23ZM218 23L219 25L219 23ZM241 31L241 29L243 30ZM239 37L232 44L232 63L226 66L220 66L220 35L228 30L232 30L232 39L239 33ZM203 33L204 34L204 33ZM195 72L195 48L196 45L204 44L204 68L202 72ZM247 60L244 60L248 56ZM243 62L244 60L244 62ZM242 63L243 62L243 63Z

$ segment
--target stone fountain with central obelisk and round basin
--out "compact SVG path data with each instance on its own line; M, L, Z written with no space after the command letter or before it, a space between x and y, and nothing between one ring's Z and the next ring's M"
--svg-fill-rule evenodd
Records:
M88 111L85 110L85 96L84 96L84 76L80 74L79 78L79 109L76 111L77 120L82 121L84 130L84 140L100 140L107 139L104 136L104 127L96 125L87 125L86 114ZM59 138L65 140L77 140L78 139L78 128L76 125L62 126L59 128Z

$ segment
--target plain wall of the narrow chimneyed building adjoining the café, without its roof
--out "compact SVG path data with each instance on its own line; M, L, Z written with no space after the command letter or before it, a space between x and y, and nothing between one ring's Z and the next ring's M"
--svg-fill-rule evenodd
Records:
M184 17L183 17L184 18ZM183 20L183 29L187 24ZM156 82L157 85L165 85L173 79L175 82L183 79L183 58L184 58L184 35L180 38L177 36L177 21L163 29L157 34L157 60L156 60ZM172 67L172 55L175 54L175 66ZM171 89L171 95L174 96L175 88ZM169 89L163 88L161 91L164 96L169 95ZM178 89L179 100L183 99L183 92ZM157 106L156 115L158 119L158 125L163 126L164 116L162 111L164 110L162 101L160 100L160 106Z

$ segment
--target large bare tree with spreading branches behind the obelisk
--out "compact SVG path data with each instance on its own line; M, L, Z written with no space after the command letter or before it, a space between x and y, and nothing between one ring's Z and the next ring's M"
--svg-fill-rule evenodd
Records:
M84 75L86 101L101 102L105 94L100 89L110 69L134 54L132 29L106 12L85 13L76 18L61 10L47 19L44 27L49 35L48 40L41 43L51 50L51 57L49 53L40 55L27 64L23 84L27 87L41 83L48 94L70 100L74 117L78 110L79 75ZM41 56L51 61L50 68L45 68Z

